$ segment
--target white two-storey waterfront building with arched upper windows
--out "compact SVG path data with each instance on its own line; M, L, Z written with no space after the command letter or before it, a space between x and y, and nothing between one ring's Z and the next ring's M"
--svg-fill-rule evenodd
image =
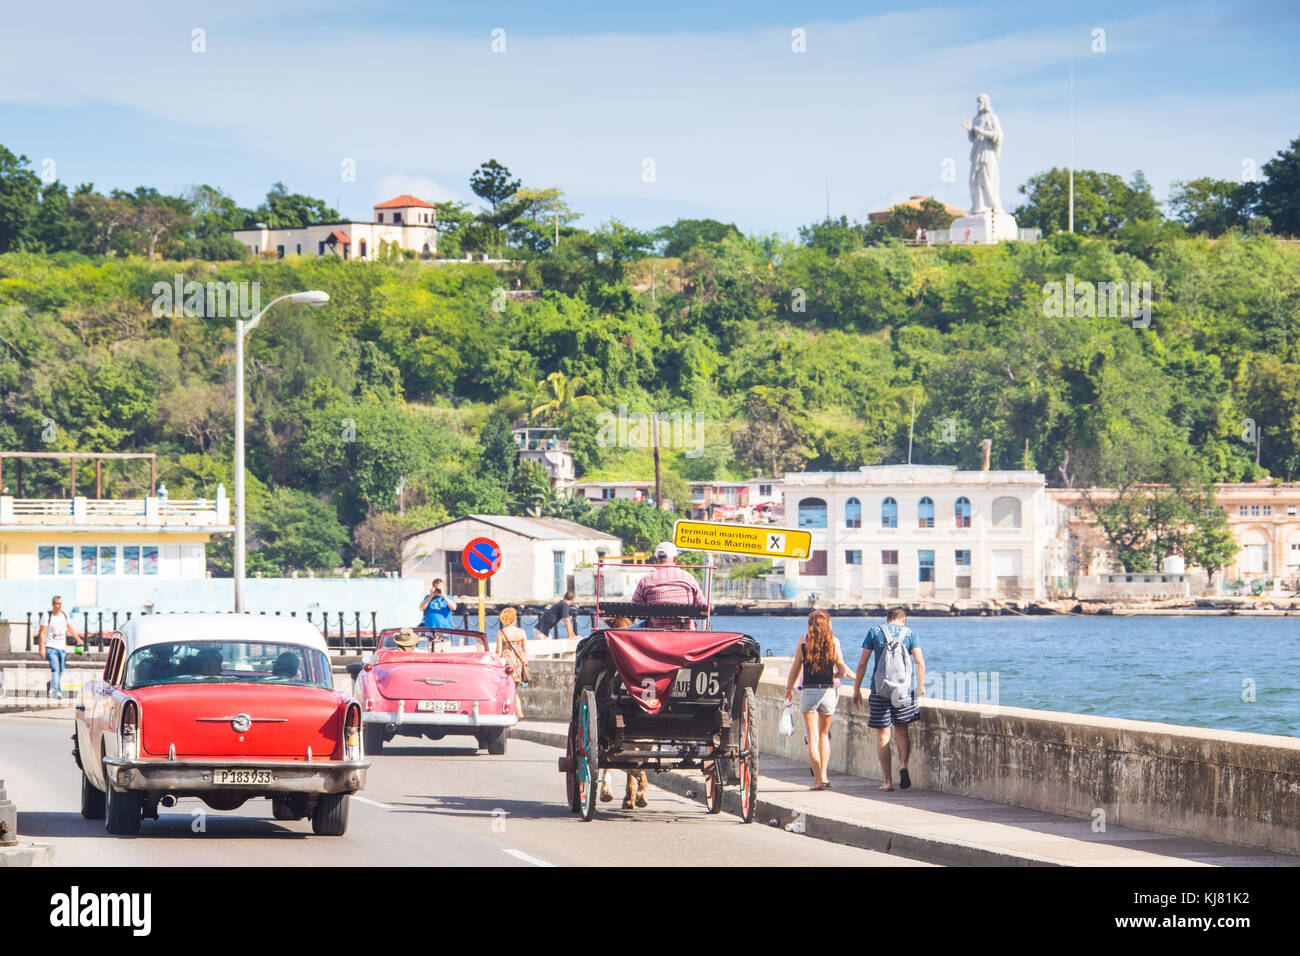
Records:
M819 601L1036 600L1066 574L1067 512L1039 472L884 464L777 485L786 524L812 533L785 578Z

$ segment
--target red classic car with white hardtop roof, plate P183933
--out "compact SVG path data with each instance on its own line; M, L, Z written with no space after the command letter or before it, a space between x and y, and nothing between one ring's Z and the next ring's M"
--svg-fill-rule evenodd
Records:
M214 810L268 797L276 819L339 836L369 766L361 708L334 689L320 632L231 614L129 620L81 689L73 757L82 816L110 834L196 796Z

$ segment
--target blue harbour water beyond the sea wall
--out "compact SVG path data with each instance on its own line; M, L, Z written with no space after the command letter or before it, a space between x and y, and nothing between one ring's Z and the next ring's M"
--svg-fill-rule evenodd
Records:
M832 618L850 669L874 618ZM715 617L789 656L805 618ZM1300 620L1291 618L913 618L957 700L1300 736ZM956 675L974 672L967 683ZM983 676L980 676L983 675ZM996 675L996 684L993 683ZM996 697L993 697L996 692ZM980 696L983 695L983 696Z

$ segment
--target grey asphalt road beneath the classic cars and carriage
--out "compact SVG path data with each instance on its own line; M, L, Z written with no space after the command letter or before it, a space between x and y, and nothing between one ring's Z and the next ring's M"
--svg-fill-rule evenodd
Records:
M621 774L618 799L584 823L564 805L558 749L511 740L504 756L490 757L452 737L372 757L346 836L274 821L266 800L217 812L196 799L146 821L139 836L110 836L101 821L81 816L65 713L0 717L0 779L18 805L20 836L52 844L58 866L919 865L708 816L703 804L654 786L649 808L621 810Z

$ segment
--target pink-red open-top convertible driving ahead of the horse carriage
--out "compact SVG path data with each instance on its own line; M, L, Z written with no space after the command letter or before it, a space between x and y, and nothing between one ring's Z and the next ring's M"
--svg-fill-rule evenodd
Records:
M519 723L514 667L489 652L478 631L381 631L378 650L348 671L361 701L367 753L380 753L395 736L442 740L448 734L506 753L510 728Z

